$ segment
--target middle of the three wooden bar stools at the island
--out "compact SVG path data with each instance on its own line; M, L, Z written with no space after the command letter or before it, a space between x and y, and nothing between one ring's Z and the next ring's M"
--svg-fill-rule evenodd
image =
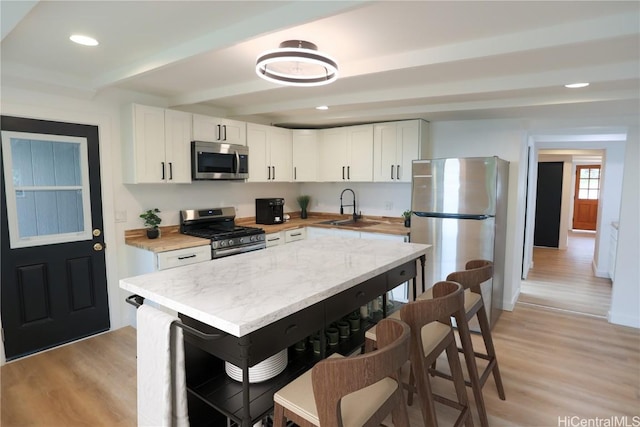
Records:
M438 282L432 289L434 298L413 301L400 309L401 319L411 328L409 393L411 396L415 381L425 426L438 425L434 405L438 402L460 411L455 426L464 424L470 427L473 426L473 418L451 324L451 317L463 313L464 291L462 286L455 282ZM430 367L445 351L458 401L435 394L431 389Z

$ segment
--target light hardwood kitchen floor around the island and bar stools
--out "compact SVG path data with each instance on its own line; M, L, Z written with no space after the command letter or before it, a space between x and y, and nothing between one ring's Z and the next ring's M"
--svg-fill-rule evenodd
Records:
M569 283L583 274L575 265L559 267ZM502 314L493 338L507 400L498 398L489 379L483 394L491 426L640 423L640 330L518 303L513 312ZM473 340L482 349L480 337ZM439 364L444 366L444 360ZM9 363L0 371L0 425L134 426L135 371L135 330L130 327ZM450 383L432 381L437 392L450 394ZM453 424L452 410L436 409L441 426ZM475 407L472 413L479 425ZM412 426L422 425L417 403L409 415ZM589 421L596 418L600 424Z

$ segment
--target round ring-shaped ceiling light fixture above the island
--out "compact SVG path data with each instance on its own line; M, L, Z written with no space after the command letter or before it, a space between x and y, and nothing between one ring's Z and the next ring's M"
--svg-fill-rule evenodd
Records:
M321 86L338 78L338 64L313 43L288 40L258 56L256 74L281 85Z

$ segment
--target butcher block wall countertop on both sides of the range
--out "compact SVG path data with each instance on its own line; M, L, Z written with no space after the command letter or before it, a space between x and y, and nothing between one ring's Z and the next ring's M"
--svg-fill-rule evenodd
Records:
M409 233L409 229L404 226L402 218L365 216L362 219L359 219L355 226L335 226L320 223L329 220L350 219L351 215L309 213L309 217L307 219L301 219L299 212L289 213L289 215L291 216L291 219L284 224L256 224L254 217L237 218L236 224L246 227L262 228L267 234L304 227L338 228L343 230L364 231L368 233L396 234L399 236L406 236ZM181 234L179 228L180 227L178 225L160 227L160 237L157 239L147 238L146 229L144 228L127 230L124 234L124 240L129 246L134 246L136 248L156 253L173 251L176 249L193 248L196 246L205 246L209 244L208 239Z

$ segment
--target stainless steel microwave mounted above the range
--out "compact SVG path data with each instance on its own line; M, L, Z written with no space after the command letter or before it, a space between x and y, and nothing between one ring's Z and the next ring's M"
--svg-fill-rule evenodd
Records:
M219 142L191 142L191 178L194 180L249 178L249 148Z

